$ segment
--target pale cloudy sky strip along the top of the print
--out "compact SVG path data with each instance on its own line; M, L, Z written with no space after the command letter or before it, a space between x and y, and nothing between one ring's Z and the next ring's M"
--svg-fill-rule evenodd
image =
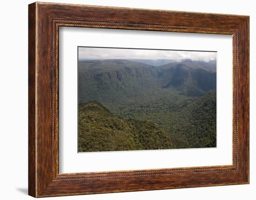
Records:
M209 62L216 60L216 52L189 52L168 50L115 49L99 47L79 47L81 59L192 59Z

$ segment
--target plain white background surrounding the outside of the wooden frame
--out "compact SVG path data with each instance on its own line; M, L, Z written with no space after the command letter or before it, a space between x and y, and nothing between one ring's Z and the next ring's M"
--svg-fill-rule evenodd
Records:
M6 0L0 6L0 199L27 200L27 5L31 0ZM250 184L116 194L81 195L63 200L218 200L256 198L256 12L253 0L48 0L250 16Z

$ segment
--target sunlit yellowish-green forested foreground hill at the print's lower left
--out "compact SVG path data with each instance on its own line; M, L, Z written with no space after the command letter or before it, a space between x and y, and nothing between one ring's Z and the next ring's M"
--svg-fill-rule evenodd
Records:
M79 104L79 152L171 148L171 138L156 123L124 120L97 102Z

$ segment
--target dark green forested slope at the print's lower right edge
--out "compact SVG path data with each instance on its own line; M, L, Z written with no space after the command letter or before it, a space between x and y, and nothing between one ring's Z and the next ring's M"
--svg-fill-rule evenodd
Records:
M216 90L195 99L175 116L176 123L165 128L174 148L216 147Z

